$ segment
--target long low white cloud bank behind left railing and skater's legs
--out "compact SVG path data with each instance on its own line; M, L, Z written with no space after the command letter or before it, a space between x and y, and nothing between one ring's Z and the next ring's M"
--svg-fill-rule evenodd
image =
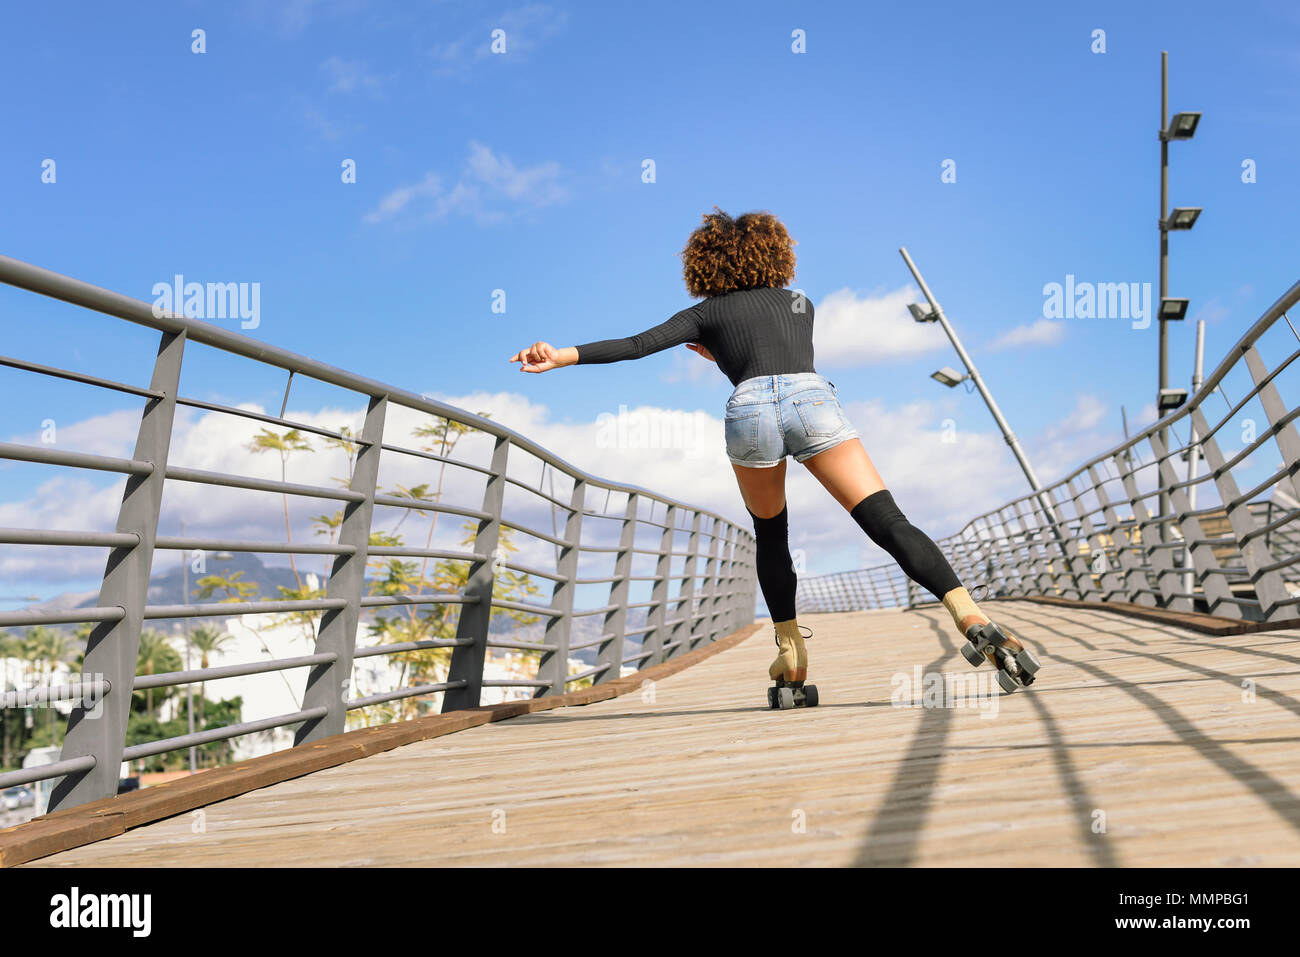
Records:
M708 369L708 364L694 355L686 359ZM724 451L720 407L707 411L651 406L627 408L606 399L606 407L589 407L575 419L572 415L559 416L550 407L517 391L476 391L438 398L458 408L488 412L493 420L595 476L698 505L748 528L749 516ZM248 408L257 410L255 406ZM949 397L897 406L881 399L852 402L845 398L845 411L861 432L863 446L904 514L933 538L957 533L976 515L1028 490L1015 459L983 408ZM1060 423L1026 438L1035 468L1044 481L1053 481L1066 469L1082 464L1087 455L1118 442L1118 421L1110 429L1104 425L1106 411L1096 397L1079 395L1074 408ZM1014 416L1014 410L1008 412ZM343 424L359 429L363 411L360 406L290 410L287 417L329 429ZM134 417L114 413L104 419L110 421L87 420L62 426L60 446L90 449L94 441L96 451L129 455L134 442ZM391 406L385 441L413 446L412 429L426 421L428 417L421 413ZM280 460L274 454L255 455L244 449L260 428L259 423L234 416L187 411L178 416L172 462L190 468L280 478ZM72 443L73 437L82 438ZM317 451L291 456L287 478L291 482L333 485L334 477L347 472L346 458L338 450L325 449L318 438L313 437L312 443ZM462 441L455 456L488 464L491 447L490 437L474 433ZM510 455L510 473L537 484L542 469L536 458L516 447ZM99 476L87 478L86 475L69 471L31 488L26 494L13 493L13 501L0 503L0 525L110 529L121 502L122 482ZM448 467L443 480L443 501L472 507L480 505L484 490L481 473ZM437 481L438 467L426 459L387 451L381 456L380 485L384 489ZM786 484L790 547L803 550L809 575L842 571L863 562L880 564L889 560L806 468L789 463ZM564 499L568 493L568 481L556 475L556 497ZM603 493L592 492L592 507L602 510L604 502ZM169 481L160 532L177 534L183 519L190 536L282 541L282 507L281 498L274 494ZM313 534L311 519L337 507L335 502L291 498L294 540L320 541ZM610 510L620 508L621 502L615 495ZM507 488L506 511L507 518L533 528L547 532L552 528L550 506L514 486ZM662 519L662 510L656 516ZM407 544L424 545L429 525L422 515L403 516L390 508L376 512L377 528L391 529L399 521ZM460 519L441 519L436 547L462 547L462 524ZM614 521L593 521L589 531L604 529L601 534L612 536L615 527ZM516 536L516 542L523 547L520 562L540 567L554 562L551 545L524 534ZM98 577L103 572L103 550L0 547L0 579L14 583L14 588L27 586L21 583L46 583L40 585L42 590L61 590L64 583ZM285 562L282 557L268 557L266 560L272 564ZM325 564L321 557L299 562L300 570L317 573Z

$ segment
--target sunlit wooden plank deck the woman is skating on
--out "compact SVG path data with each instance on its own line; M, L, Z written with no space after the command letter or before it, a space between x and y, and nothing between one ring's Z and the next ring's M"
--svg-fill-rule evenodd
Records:
M1300 866L1300 631L989 609L1043 661L1034 688L992 697L939 607L814 615L818 709L766 710L764 628L640 694L27 866ZM962 681L950 701L924 677L939 672Z

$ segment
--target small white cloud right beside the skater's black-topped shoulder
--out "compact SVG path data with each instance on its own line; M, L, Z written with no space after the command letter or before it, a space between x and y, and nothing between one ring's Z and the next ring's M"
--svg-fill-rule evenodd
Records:
M914 286L864 299L849 289L823 296L812 321L818 365L867 365L945 348L937 324L916 322L907 312L907 303L919 299Z

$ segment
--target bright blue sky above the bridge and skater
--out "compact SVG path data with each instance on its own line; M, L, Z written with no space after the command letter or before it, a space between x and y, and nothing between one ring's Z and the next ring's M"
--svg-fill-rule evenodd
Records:
M1161 49L1171 112L1204 112L1171 146L1171 203L1205 213L1173 237L1170 273L1208 320L1208 364L1296 278L1282 217L1300 208L1300 14L1284 3L235 0L23 4L5 18L0 252L142 299L176 273L257 282L248 334L415 391L498 397L497 417L521 430L512 400L554 426L623 403L720 416L729 384L684 347L543 376L506 361L689 304L676 254L718 204L777 213L798 241L794 285L814 303L838 293L846 317L898 312L909 247L1043 477L1101 451L1121 404L1149 421L1156 328L1048 328L1043 287L1156 281ZM504 55L489 51L494 29ZM1242 181L1247 159L1257 182ZM941 182L945 160L956 182ZM0 326L5 354L147 380L152 337L124 324L0 289ZM1174 385L1193 333L1173 329ZM874 348L883 333L866 320L840 335L852 363L828 348L818 365L859 403L874 455L874 439L905 443L876 437L876 413L989 433L978 397L928 378L957 365L941 341ZM42 389L0 374L5 439L94 411L84 391ZM281 390L231 365L200 391L278 411ZM988 495L1020 494L1005 446L988 447L1001 476ZM885 478L906 485L911 460L896 459ZM618 456L577 464L634 478ZM16 482L0 493L21 495ZM936 536L974 510L913 501ZM852 532L810 564L855 563Z

